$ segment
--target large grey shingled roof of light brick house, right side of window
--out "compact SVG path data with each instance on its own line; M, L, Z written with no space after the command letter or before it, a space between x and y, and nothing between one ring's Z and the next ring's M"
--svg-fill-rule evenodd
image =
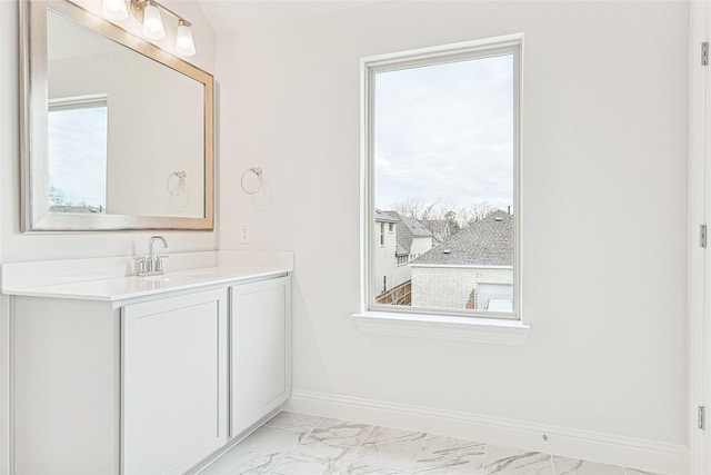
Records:
M512 266L513 216L502 210L492 212L411 264Z

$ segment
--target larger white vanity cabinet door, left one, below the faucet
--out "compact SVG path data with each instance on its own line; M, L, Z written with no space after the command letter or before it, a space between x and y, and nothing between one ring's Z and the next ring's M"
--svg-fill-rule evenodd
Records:
M227 295L123 308L123 474L177 474L227 443Z

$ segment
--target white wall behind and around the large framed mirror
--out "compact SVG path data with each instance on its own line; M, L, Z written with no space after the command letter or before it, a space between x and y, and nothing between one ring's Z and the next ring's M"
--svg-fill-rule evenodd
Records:
M83 1L84 4L100 4ZM216 36L194 1L172 1L167 4L181 11L194 23L198 55L190 62L214 72ZM1 73L6 81L0 89L0 263L23 260L64 259L82 257L130 256L148 251L150 231L99 232L78 235L23 235L20 231L20 155L18 144L18 30L17 3L0 1L3 28L0 30ZM130 27L134 20L127 20ZM170 32L168 32L170 34ZM173 37L174 38L174 37ZM168 41L168 40L167 40ZM127 184L128 187L131 184ZM188 250L212 250L217 248L217 232L161 231L168 240L168 253ZM169 263L168 263L169 265Z

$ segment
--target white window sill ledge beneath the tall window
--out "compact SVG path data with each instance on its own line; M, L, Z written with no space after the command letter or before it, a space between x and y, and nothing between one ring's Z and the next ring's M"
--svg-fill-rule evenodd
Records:
M522 346L531 329L520 320L448 317L442 315L362 311L353 314L363 334L437 338Z

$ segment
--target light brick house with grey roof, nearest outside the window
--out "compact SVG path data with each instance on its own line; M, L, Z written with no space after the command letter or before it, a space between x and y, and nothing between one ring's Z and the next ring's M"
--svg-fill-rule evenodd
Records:
M412 306L511 311L513 216L495 211L410 263Z

